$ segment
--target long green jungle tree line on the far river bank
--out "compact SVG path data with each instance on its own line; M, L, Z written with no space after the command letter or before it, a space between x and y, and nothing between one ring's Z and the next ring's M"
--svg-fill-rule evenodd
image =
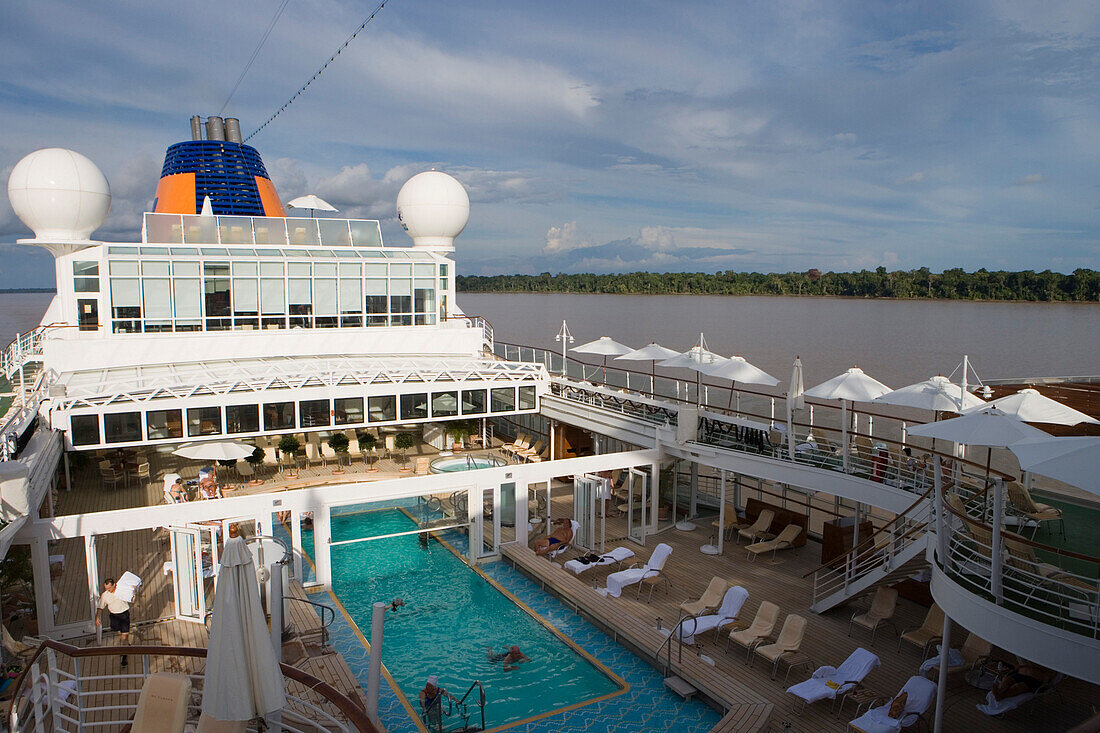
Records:
M459 275L466 293L603 293L632 295L832 295L861 298L939 298L948 300L1100 302L1100 272L1075 270L945 270L886 267L859 272L758 273L631 272L613 275Z

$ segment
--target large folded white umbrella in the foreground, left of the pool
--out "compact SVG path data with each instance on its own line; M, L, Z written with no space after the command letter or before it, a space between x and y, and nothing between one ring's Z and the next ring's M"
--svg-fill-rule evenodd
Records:
M215 720L248 721L286 707L256 568L240 537L221 556L202 689L202 712Z

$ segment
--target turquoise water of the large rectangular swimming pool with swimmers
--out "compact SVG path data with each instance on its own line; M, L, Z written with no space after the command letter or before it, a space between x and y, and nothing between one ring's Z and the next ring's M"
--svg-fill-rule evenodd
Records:
M331 534L340 541L416 526L398 508L333 513ZM487 727L628 689L435 539L422 547L413 534L338 545L331 553L332 590L367 638L372 604L405 601L386 614L383 664L418 712L419 690L432 674L459 697L481 680ZM506 672L487 659L486 649L509 644L531 661Z

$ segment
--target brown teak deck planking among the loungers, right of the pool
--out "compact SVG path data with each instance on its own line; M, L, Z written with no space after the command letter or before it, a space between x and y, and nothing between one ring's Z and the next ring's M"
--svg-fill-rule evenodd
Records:
M571 517L572 496L556 495L552 501L551 514L554 517ZM697 528L693 532L670 530L658 536L647 537L647 546L639 547L631 541L622 539L626 535L624 519L610 516L607 518L607 549L625 545L635 550L634 560L644 561L658 543L667 543L673 548L664 571L664 575L672 582L671 591L666 594L658 587L651 603L646 602L647 590L645 589L641 593L641 600L636 600L632 587L625 589L622 598L618 599L604 599L597 594L593 590L593 586L603 587L606 577L615 570L614 567L586 571L580 576L583 587L578 588L576 584L568 583L569 580L573 579L571 572L563 571L543 559L531 562L518 558L519 555L534 557L525 548L518 548L518 551L506 549L506 556L517 557L516 564L520 569L528 571L529 575L534 570L537 579L543 581L549 590L554 591L557 586L565 588L565 592L559 594L566 597L566 599L571 594L585 597L581 599L580 603L566 600L569 605L584 608L591 604L593 608L607 608L608 602L613 603L616 612L595 621L605 628L623 632L627 638L629 638L631 630L637 633L639 626L654 627L658 616L664 627L674 625L679 617L679 604L685 600L697 599L702 595L711 578L719 576L734 584L745 587L749 591L749 600L741 610L740 619L751 621L760 602L765 600L778 604L782 612L779 624L777 624L777 633L788 613L796 613L806 617L809 626L802 644L802 652L813 660L815 667L837 666L857 647L868 648L879 656L882 665L868 675L865 680L866 687L883 697L897 694L905 680L916 674L921 663L920 650L905 644L899 652L898 637L889 628L879 630L873 646L870 645L870 634L861 628L855 628L851 638L848 637L848 621L854 605L840 606L821 615L809 610L813 579L812 577L803 578L803 575L818 566L821 559L821 545L818 543L811 540L804 547L780 553L774 565L769 561L768 556L760 556L756 561L749 562L746 558L745 546L737 546L733 543L726 545L724 555L708 556L700 553L698 548L711 537L713 527L710 522L710 519L698 522ZM613 537L619 539L613 541ZM576 554L569 553L566 557L561 559L568 559ZM902 599L894 621L900 628L917 626L924 620L925 612L925 608ZM966 632L956 626L953 632L953 643L955 645L961 644L965 635ZM778 678L771 680L769 678L770 665L757 661L750 668L745 665L745 656L739 648L732 648L727 653L724 650L724 638L717 645L712 639L712 634L696 637L697 642L703 643L702 654L715 660L716 670L725 678L725 687L732 693L739 692L740 702L768 702L774 705L771 714L772 730L783 730L783 723L789 722L791 731L844 731L847 721L855 716L850 703L846 705L845 715L840 720L832 714L829 702L806 705L805 710L800 713L801 701L789 694L785 689L788 685L802 681L809 676L807 672L792 671L788 685L784 685L785 666L780 665ZM652 655L656 648L647 647L645 650ZM688 655L695 654L691 647L685 647L683 653L685 658ZM1002 656L1011 658L1005 653L1002 653ZM1059 691L1064 702L1059 702L1058 696L1054 694L1040 701L1031 715L1018 710L1010 713L1007 719L998 720L982 714L975 708L976 703L982 701L985 692L969 687L961 678L953 679L947 691L945 729L947 731L968 731L968 733L1065 731L1091 714L1091 705L1100 704L1100 688L1080 680L1065 680L1059 686Z

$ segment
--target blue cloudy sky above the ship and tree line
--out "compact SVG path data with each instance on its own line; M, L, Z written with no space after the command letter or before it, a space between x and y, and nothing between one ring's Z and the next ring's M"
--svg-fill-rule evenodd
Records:
M193 114L258 128L374 9L283 0L0 3L0 174L103 171L133 241ZM224 106L224 109L222 109ZM463 274L1100 269L1100 3L391 0L250 141L408 243L437 168ZM52 286L0 197L0 288Z

